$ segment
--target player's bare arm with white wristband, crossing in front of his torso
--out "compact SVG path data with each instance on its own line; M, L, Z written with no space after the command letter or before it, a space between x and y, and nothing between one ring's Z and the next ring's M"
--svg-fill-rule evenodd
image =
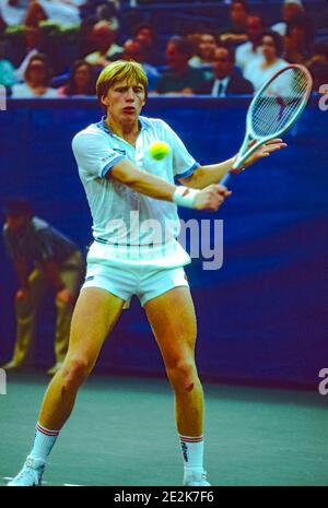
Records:
M225 187L219 185L210 185L202 190L190 191L186 189L187 192L184 196L184 187L177 187L162 178L142 172L126 158L115 164L107 172L106 178L114 178L136 192L149 196L150 198L174 201L179 205L198 210L218 210L224 199L231 196L231 192Z

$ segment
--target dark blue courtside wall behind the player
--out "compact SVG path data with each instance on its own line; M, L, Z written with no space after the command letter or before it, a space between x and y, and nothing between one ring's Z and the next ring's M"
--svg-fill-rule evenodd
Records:
M150 98L145 114L166 120L200 163L236 153L248 98ZM71 138L101 111L93 99L9 102L0 113L0 200L25 194L39 216L82 249L91 218ZM285 140L289 149L231 180L233 197L216 214L180 210L184 218L224 221L224 263L187 268L196 302L202 377L231 381L312 385L328 367L328 113L317 99ZM2 217L3 218L3 217ZM0 241L0 361L14 340L16 282ZM55 311L44 305L36 362L54 362ZM143 310L133 300L105 343L98 368L162 373Z

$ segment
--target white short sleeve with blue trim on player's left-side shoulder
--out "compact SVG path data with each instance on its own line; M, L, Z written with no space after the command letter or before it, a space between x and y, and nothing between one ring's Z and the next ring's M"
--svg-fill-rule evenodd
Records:
M79 132L72 141L73 154L84 176L105 178L107 172L124 156L113 150L107 139L92 132Z

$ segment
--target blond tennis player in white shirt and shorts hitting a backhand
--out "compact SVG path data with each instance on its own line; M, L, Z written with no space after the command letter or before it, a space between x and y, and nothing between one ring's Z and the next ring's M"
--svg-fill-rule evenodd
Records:
M235 157L211 166L198 164L164 121L140 116L147 90L140 64L116 61L107 66L96 84L107 114L73 139L93 216L94 243L65 364L47 389L32 451L9 485L40 485L47 457L78 390L132 295L145 309L174 390L184 485L210 485L203 469L203 392L194 356L196 317L184 271L190 258L176 241L177 206L216 211L231 196L216 182ZM159 140L165 141L171 152L156 162L148 149ZM273 140L248 163L283 145ZM183 185L176 186L175 179ZM140 227L136 227L136 214ZM161 238L159 231L163 232Z

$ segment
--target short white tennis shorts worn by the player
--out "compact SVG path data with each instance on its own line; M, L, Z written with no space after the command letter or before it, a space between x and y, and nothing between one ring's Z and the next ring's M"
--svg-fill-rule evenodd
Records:
M95 244L92 245L87 256L87 269L82 288L101 287L124 299L127 304L136 295L140 299L140 304L144 306L150 299L174 287L189 286L185 270L181 267L188 262L184 256L180 258L180 265L176 265L178 263L177 258L175 258L173 267L169 265L167 267L159 267L157 263L152 263L153 260L147 263L144 258L143 262L139 260L139 263L136 263L134 259L134 262L131 263L121 259L119 263L117 258L113 259L110 256L106 256L104 259L104 250L107 251L107 255L110 250L108 246ZM186 256L188 255L186 253Z

